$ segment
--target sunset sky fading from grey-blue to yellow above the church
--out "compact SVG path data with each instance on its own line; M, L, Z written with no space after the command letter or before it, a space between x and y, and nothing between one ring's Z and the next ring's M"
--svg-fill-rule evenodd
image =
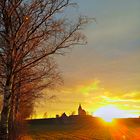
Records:
M140 0L77 0L75 13L96 18L85 27L87 46L57 57L64 85L39 101L38 117L77 111L94 114L104 106L122 110L116 117L140 115ZM45 92L45 91L44 91ZM77 113L77 112L76 112ZM96 113L95 113L96 115Z

